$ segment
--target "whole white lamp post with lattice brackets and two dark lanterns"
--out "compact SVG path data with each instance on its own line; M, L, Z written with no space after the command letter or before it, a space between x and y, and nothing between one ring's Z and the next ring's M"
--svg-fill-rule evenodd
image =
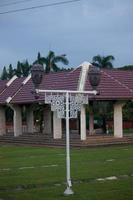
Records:
M88 73L89 81L93 91L72 91L72 90L40 90L39 85L42 82L44 69L40 64L33 65L31 69L32 81L35 87L35 98L38 99L38 93L45 93L45 103L51 104L51 110L57 111L59 118L66 119L66 180L67 188L64 195L71 195L72 183L70 176L70 138L69 138L69 119L77 118L77 112L81 111L81 106L88 103L87 94L96 95L97 86L100 82L100 71L91 66Z

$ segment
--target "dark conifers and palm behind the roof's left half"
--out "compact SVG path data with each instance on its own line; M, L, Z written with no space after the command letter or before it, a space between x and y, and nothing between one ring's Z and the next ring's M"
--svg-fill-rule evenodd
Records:
M38 52L37 59L33 62L33 64L41 64L45 67L45 72L49 73L51 71L64 71L70 70L65 68L60 68L58 63L63 63L64 65L68 65L69 61L66 58L65 54L55 55L53 51L49 51L46 57L41 56L40 52ZM28 60L23 62L18 61L17 66L13 68L12 64L8 67L4 66L1 74L2 80L9 80L14 75L17 77L27 77L30 74L32 64L29 64Z

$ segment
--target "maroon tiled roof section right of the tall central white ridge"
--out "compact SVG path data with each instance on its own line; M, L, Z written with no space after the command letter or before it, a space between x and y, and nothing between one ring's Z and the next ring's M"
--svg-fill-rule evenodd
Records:
M90 90L87 80L85 90ZM101 70L98 100L133 99L133 71ZM92 98L92 96L90 96Z

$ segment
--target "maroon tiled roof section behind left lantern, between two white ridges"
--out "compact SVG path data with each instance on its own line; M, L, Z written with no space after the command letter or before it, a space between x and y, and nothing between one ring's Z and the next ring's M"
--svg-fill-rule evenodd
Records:
M44 74L40 89L46 90L77 90L80 69L59 73ZM35 102L33 83L29 80L22 89L14 96L11 103L31 103ZM39 100L44 100L44 94L39 94Z

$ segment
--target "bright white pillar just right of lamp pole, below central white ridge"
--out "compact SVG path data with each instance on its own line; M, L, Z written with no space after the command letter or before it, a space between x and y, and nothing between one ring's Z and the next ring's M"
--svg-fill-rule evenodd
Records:
M81 140L86 140L86 113L84 105L81 107L80 112L80 138Z

